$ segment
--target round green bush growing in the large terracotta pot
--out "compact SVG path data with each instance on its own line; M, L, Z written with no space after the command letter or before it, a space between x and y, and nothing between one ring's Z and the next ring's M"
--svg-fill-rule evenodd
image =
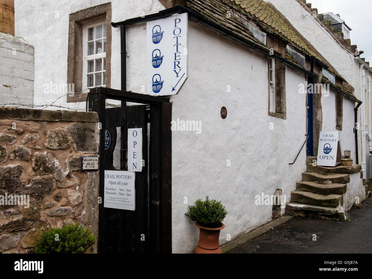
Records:
M189 205L185 213L191 220L198 222L203 227L218 228L226 217L228 211L221 204L221 201L209 199L206 196L205 201L198 199L195 205Z

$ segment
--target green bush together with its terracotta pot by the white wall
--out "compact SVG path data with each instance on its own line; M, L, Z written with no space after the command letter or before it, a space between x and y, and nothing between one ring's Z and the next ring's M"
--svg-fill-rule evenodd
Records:
M195 205L188 206L185 215L196 221L196 226L199 227L199 243L194 253L222 253L218 239L219 232L225 227L222 221L227 213L221 201L210 200L208 196L205 201L198 199Z

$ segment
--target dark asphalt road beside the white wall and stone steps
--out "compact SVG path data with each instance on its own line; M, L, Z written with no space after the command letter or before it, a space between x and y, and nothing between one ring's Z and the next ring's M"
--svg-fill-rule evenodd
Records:
M372 197L363 205L350 221L294 217L227 253L372 253Z

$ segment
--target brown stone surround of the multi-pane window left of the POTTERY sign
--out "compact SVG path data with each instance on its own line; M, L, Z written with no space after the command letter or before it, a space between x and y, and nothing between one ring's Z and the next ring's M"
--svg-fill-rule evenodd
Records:
M80 92L83 85L83 25L106 19L106 87L111 86L111 3L80 10L69 16L67 83ZM67 103L85 102L88 93L67 95Z

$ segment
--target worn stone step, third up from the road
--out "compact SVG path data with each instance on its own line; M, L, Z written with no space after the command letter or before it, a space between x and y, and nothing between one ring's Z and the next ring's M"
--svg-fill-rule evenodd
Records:
M346 193L346 184L341 183L322 184L314 181L299 181L297 182L296 189L298 191L311 192L315 194L342 195Z

